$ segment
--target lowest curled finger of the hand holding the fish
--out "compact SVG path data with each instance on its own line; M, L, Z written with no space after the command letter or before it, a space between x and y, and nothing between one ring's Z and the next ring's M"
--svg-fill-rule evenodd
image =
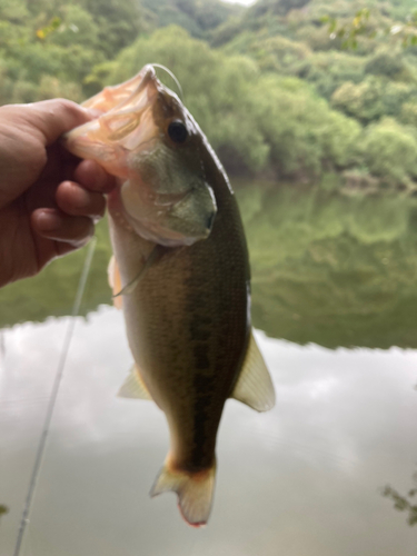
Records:
M56 209L38 209L31 215L33 230L41 237L81 247L92 237L91 218L67 216Z

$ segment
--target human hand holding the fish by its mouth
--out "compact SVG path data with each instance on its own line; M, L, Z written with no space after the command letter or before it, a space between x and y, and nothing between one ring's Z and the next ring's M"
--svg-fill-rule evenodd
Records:
M88 242L113 178L59 137L89 121L63 99L0 107L0 287Z

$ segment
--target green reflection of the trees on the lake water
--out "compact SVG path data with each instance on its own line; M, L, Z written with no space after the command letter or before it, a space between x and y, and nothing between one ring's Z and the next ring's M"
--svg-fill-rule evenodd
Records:
M237 183L252 266L255 326L297 344L417 347L417 199ZM87 315L110 304L106 222ZM68 315L83 254L0 291L0 327Z

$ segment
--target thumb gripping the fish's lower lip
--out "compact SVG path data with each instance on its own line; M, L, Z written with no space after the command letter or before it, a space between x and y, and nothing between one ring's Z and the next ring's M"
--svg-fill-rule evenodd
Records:
M42 100L24 107L43 143L53 143L62 133L92 119L86 109L66 99Z

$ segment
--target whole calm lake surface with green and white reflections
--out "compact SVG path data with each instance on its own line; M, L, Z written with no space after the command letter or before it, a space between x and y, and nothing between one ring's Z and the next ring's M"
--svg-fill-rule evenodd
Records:
M132 358L105 222L21 556L417 555L417 199L236 190L277 405L227 403L209 525L187 527L173 495L148 497L168 430L152 403L116 397ZM85 257L0 291L0 556L13 553Z

